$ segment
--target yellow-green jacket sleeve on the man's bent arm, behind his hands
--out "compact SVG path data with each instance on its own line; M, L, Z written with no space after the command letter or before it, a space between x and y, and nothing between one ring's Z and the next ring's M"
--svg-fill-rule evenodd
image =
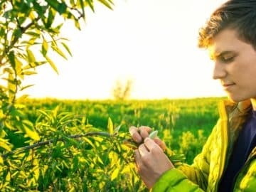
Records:
M176 169L166 171L156 182L152 191L206 191L210 167L211 143L215 138L213 128L200 154L192 165L183 164Z

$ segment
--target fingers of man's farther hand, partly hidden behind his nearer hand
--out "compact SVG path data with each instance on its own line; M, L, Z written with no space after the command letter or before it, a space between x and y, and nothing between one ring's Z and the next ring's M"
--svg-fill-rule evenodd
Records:
M151 128L146 126L141 126L139 127L139 129L134 126L129 127L129 133L132 135L132 139L134 139L134 141L137 142L138 144L142 144L144 139L146 139L146 137L149 137L150 132ZM166 149L166 144L164 144L164 142L162 142L161 139L159 139L159 137L155 137L154 142L156 142L156 144L158 144L161 147L161 149Z

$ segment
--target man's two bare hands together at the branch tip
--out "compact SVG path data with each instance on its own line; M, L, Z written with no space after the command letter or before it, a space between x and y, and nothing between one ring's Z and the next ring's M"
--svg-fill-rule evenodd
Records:
M174 168L174 165L164 154L166 144L159 137L150 139L150 132L151 128L146 126L139 127L139 129L137 127L129 128L132 139L140 144L139 148L135 150L135 161L139 176L147 188L152 188L165 171Z

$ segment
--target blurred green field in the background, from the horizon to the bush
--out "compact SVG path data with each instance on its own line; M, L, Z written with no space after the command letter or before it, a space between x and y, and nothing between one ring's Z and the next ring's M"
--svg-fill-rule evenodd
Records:
M37 110L73 112L85 117L93 127L107 130L110 117L114 127L122 124L120 132L129 126L146 125L159 130L159 137L172 150L186 155L186 163L201 151L206 138L218 119L218 101L223 98L207 97L177 100L26 100L28 118L35 122Z

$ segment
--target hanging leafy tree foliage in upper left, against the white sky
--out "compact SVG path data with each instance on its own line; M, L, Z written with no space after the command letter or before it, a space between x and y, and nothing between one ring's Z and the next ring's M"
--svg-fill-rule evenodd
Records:
M111 0L99 0L111 9ZM0 135L1 147L10 150L4 139L8 131L28 135L34 141L40 139L33 124L23 113L24 105L16 105L16 94L32 85L22 85L27 75L36 74L38 66L48 63L58 70L49 52L67 58L63 49L71 55L65 38L60 37L63 23L71 20L80 29L80 19L85 19L85 6L94 11L94 1L75 0L3 0L0 2Z

